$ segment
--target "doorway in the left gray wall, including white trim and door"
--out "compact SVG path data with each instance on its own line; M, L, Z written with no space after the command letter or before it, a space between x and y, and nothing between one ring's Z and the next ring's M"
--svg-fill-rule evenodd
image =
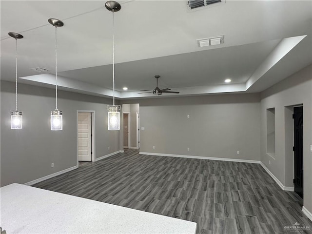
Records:
M94 111L77 111L77 160L95 161Z

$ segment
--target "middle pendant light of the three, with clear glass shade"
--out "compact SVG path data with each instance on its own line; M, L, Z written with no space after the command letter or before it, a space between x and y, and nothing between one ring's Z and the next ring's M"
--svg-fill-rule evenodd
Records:
M62 112L58 110L58 38L57 28L62 27L64 23L57 19L49 19L49 23L55 26L55 93L56 93L56 108L51 111L51 130L63 130L63 116Z

